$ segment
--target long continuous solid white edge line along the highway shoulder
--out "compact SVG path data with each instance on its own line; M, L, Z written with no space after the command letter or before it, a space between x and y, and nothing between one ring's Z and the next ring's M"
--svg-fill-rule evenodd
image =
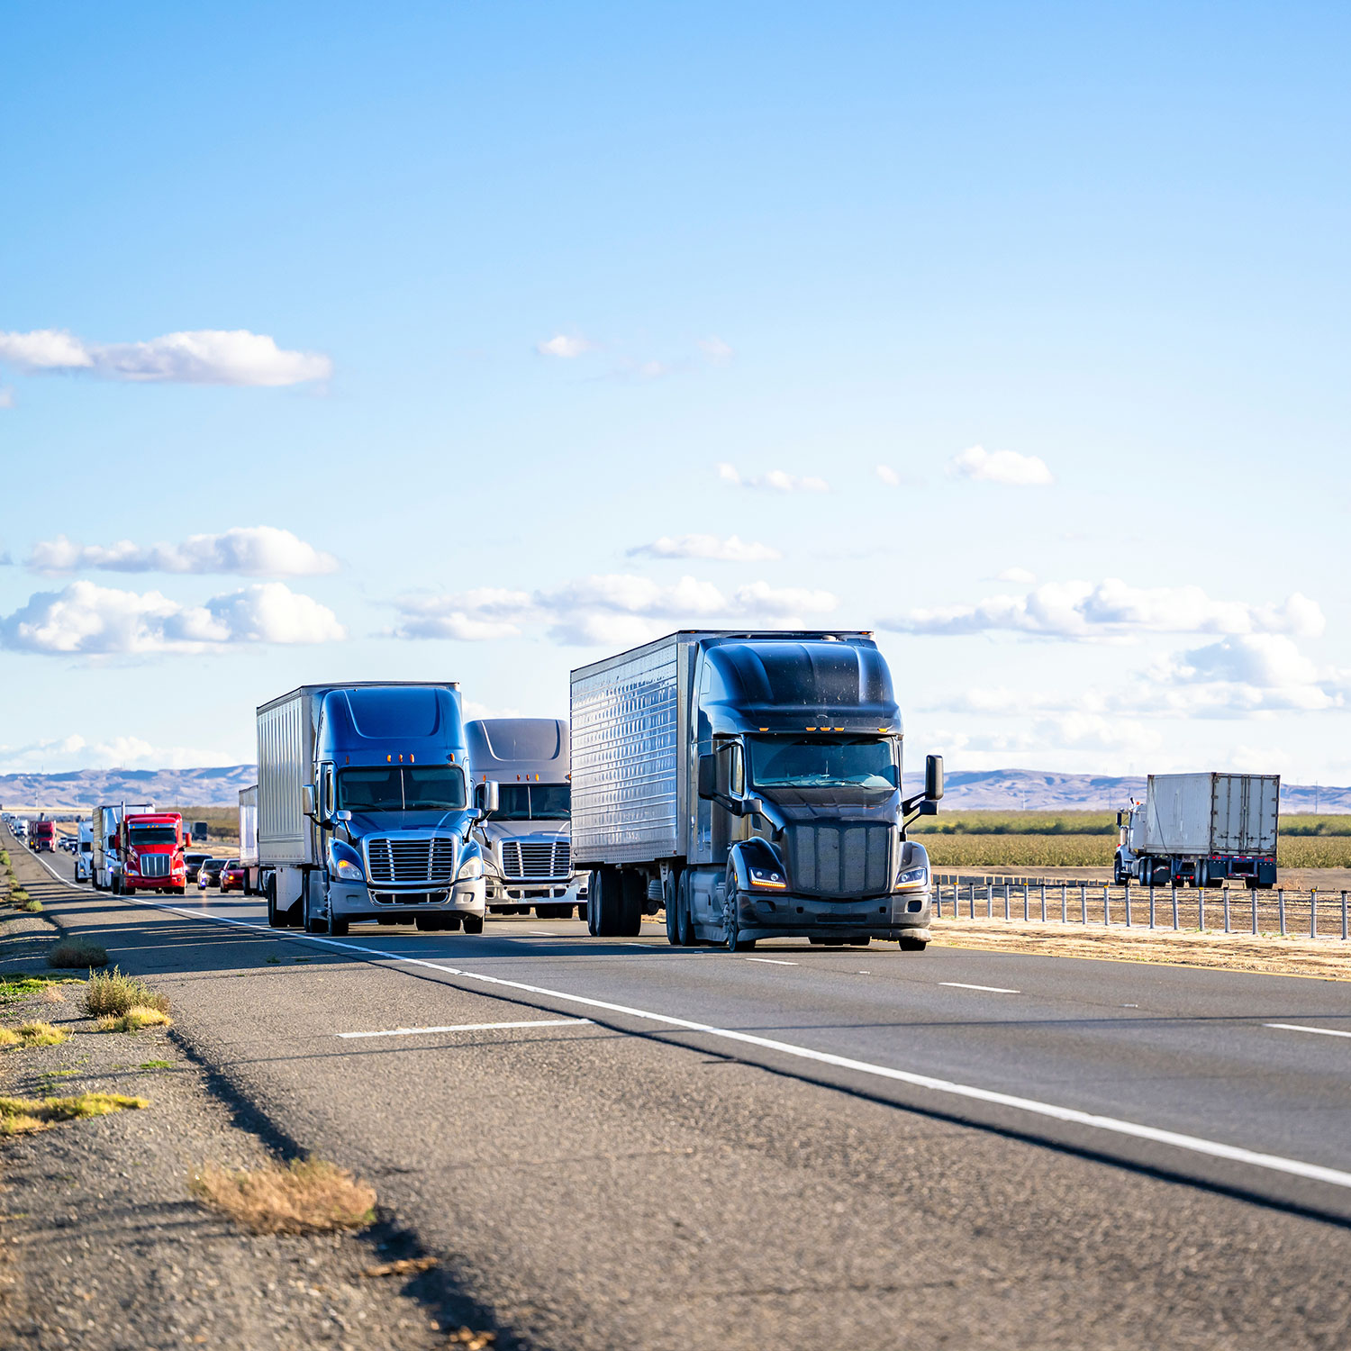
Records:
M254 929L270 938L280 938L277 929L263 924L254 924L251 920L234 920L223 915L201 913L199 911L185 911L177 905L165 905L162 901L143 901L134 896L124 896L122 900L134 905L143 905L149 909L168 911L173 915L184 915L192 920L208 920L216 924L230 924L235 928ZM1305 1163L1301 1159L1286 1159L1279 1154L1262 1154L1258 1150L1246 1150L1238 1144L1224 1144L1220 1140L1206 1140L1198 1135L1183 1135L1179 1131L1165 1131L1155 1125L1142 1125L1139 1121L1123 1121L1115 1116L1098 1116L1096 1112L1081 1112L1073 1106L1059 1106L1055 1102L1039 1102L1036 1098L1017 1097L1012 1093L998 1093L994 1089L975 1088L970 1084L954 1084L951 1079L939 1079L931 1074L916 1074L913 1070L896 1070L889 1065L873 1065L869 1061L854 1061L847 1055L834 1055L830 1051L817 1051L809 1046L794 1046L792 1042L775 1042L773 1038L755 1036L751 1032L738 1032L734 1028L715 1027L711 1023L696 1023L692 1019L673 1017L669 1013L654 1013L651 1009L631 1008L627 1004L612 1004L608 1000L594 1000L585 994L570 994L566 990L551 990L546 985L530 985L526 981L508 981L503 975L486 975L481 971L466 971L458 966L446 966L442 962L428 962L417 957L404 957L399 952L389 952L378 947L366 947L362 943L349 943L335 938L320 938L316 934L288 934L288 939L301 943L316 943L323 947L336 947L345 952L359 952L377 958L381 962L399 962L404 966L419 966L428 971L442 971L446 975L457 975L466 981L478 981L504 990L520 990L524 994L539 994L544 998L561 1000L565 1004L578 1004L584 1008L603 1009L607 1013L623 1013L626 1017L642 1019L647 1023L658 1023L662 1027L678 1028L682 1032L700 1032L704 1036L721 1038L725 1042L736 1042L742 1046L758 1046L766 1051L777 1051L781 1055L792 1055L800 1061L812 1061L817 1065L830 1065L840 1070L852 1070L857 1074L870 1074L882 1079L892 1079L897 1084L908 1084L912 1088L925 1089L931 1093L940 1093L948 1097L967 1098L973 1102L988 1102L992 1106L1006 1106L1029 1116L1044 1116L1066 1125L1084 1125L1094 1131L1104 1131L1109 1135L1124 1135L1136 1140L1151 1140L1155 1144L1169 1144L1178 1150L1188 1150L1212 1159L1228 1159L1232 1163L1246 1163L1250 1167L1267 1169L1271 1173L1285 1173L1290 1177L1306 1178L1313 1182L1327 1182L1331 1186L1351 1189L1351 1173L1340 1169L1324 1167L1321 1163Z

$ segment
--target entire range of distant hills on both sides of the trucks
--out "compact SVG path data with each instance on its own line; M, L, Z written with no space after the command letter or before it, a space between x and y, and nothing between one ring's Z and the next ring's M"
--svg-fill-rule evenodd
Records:
M7 811L85 811L96 802L150 801L180 807L234 807L257 781L253 765L224 769L82 769L69 774L0 774ZM909 786L909 780L907 780ZM944 811L1104 812L1144 792L1144 778L1052 774L1032 769L954 770ZM1281 785L1283 813L1351 812L1351 788Z

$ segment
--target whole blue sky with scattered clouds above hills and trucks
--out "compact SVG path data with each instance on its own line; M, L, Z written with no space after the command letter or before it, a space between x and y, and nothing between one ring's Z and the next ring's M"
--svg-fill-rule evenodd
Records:
M0 770L802 624L912 761L1351 782L1348 28L12 9Z

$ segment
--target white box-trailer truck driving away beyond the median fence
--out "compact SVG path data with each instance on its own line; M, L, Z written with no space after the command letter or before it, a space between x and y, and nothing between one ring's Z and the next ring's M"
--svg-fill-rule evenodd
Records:
M1144 801L1117 812L1117 885L1275 886L1279 774L1151 774Z

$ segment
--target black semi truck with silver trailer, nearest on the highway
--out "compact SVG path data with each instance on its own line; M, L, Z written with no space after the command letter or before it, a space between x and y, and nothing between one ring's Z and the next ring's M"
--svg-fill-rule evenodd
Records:
M673 944L929 939L929 866L905 827L901 715L861 632L680 632L571 674L573 854L588 928Z

